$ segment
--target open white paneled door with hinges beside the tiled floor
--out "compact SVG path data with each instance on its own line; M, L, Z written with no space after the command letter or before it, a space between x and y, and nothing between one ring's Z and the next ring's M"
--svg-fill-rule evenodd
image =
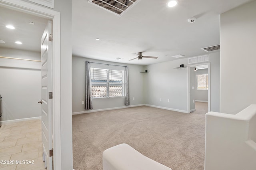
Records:
M42 64L42 148L45 166L52 170L52 21L44 30L41 40L41 64Z

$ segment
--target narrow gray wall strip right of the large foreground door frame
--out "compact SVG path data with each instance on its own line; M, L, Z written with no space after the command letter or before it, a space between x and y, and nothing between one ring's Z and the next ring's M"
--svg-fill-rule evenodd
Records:
M72 146L72 0L54 0L60 12L60 110L62 170L73 169Z

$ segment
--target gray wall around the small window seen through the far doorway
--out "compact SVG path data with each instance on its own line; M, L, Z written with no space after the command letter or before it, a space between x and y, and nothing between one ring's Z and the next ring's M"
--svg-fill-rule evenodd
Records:
M196 71L196 75L198 74L208 74L208 69L199 69ZM197 83L196 75L195 75L195 82ZM195 100L208 101L208 90L198 90L196 88L197 86L196 83L195 83Z

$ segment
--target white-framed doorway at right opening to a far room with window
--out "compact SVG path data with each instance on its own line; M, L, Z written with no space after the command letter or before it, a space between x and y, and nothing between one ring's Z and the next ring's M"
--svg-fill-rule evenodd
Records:
M188 65L188 108L189 113L207 103L210 112L210 63ZM202 103L202 104L200 104ZM204 104L203 104L204 103Z

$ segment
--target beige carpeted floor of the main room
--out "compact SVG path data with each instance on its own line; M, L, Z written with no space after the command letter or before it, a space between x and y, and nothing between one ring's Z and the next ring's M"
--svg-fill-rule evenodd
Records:
M127 143L172 170L203 170L205 114L196 102L190 114L141 106L73 115L75 170L102 170L102 152Z

